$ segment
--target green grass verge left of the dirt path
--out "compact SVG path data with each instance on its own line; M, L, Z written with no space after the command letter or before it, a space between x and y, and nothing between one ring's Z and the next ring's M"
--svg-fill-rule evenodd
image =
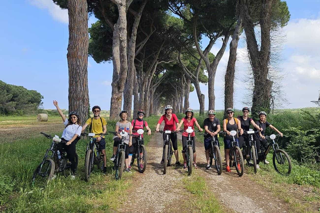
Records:
M61 119L61 118L60 118ZM146 119L154 129L158 117ZM108 130L114 131L113 122ZM61 133L56 133L61 136ZM107 159L112 155L113 135L106 137ZM151 136L145 135L148 144ZM76 180L62 175L47 185L32 186L30 180L51 141L45 137L19 139L0 144L0 211L4 212L110 212L117 208L119 199L126 195L133 174L125 173L120 181L114 180L112 164L107 160L108 174L96 168L89 182L84 181L84 155L87 141L77 143L79 156Z

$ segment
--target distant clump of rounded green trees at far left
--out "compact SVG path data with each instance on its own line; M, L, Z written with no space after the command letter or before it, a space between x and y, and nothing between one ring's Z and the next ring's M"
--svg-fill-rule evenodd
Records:
M6 84L0 80L0 114L2 115L35 114L43 104L42 99L43 96L36 90Z

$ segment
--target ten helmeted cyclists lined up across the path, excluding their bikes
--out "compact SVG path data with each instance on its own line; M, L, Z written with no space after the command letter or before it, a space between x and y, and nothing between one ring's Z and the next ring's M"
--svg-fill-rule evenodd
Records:
M64 148L66 150L68 160L71 162L71 178L75 178L75 153L76 153L76 142L78 141L79 137L81 136L81 133L85 131L86 127L89 126L89 132L90 133L107 133L107 121L105 118L100 117L100 106L94 106L92 107L93 117L89 118L86 123L83 126L80 126L79 123L79 113L77 111L72 111L69 113L68 119L66 119L65 115L62 113L58 106L57 101L53 101L54 106L56 106L63 122L65 125L64 131L61 136L61 141L64 143L61 143L60 148ZM161 123L164 121L164 130L170 130L172 133L170 133L170 140L172 142L172 147L174 150L174 155L176 158L176 165L181 166L179 162L179 153L178 153L178 139L177 139L177 131L180 130L180 128L183 125L183 129L187 130L188 128L192 128L194 130L194 126L196 126L201 132L203 129L198 124L196 118L194 118L194 111L191 108L186 109L185 111L185 117L181 119L179 122L179 119L177 116L172 113L172 106L167 105L164 108L164 115L162 115L156 125L156 132L159 132L159 127ZM231 143L233 138L230 136L230 132L232 130L238 131L239 133L236 134L235 140L238 143L239 148L242 148L243 144L249 141L249 137L245 136L244 130L249 131L250 125L254 127L255 131L259 131L254 134L254 141L256 142L256 147L259 152L260 146L267 147L268 142L264 136L265 129L267 127L270 127L274 131L280 134L282 137L283 134L276 129L276 127L272 126L268 121L266 121L267 113L264 111L261 111L259 113L259 120L254 122L252 118L248 117L248 114L250 112L250 109L248 107L244 107L242 109L243 115L239 115L237 118L234 117L234 109L228 108L226 110L227 118L223 120L222 128L223 131L226 133L226 136L224 137L224 148L225 148L225 160L226 160L226 171L231 172L230 170L230 164L229 164L229 149L231 148ZM119 113L119 117L121 118L118 122L116 122L116 129L115 132L119 133L116 134L113 137L114 144L113 144L113 155L110 158L111 161L115 160L115 155L117 151L118 144L121 141L122 136L120 135L120 132L125 131L129 133L127 136L125 136L124 143L125 143L125 170L126 172L130 172L131 166L131 158L133 154L133 148L135 147L135 143L137 140L137 137L139 136L138 133L133 133L134 136L132 136L132 130L138 130L138 129L146 129L148 130L148 135L151 134L151 129L148 126L148 123L143 120L145 115L144 110L139 110L137 113L137 118L133 119L131 122L127 120L128 118L128 111L122 110ZM210 159L209 159L209 150L211 148L211 140L212 137L215 137L215 139L218 141L218 134L221 130L221 124L220 120L215 117L216 112L214 110L209 110L207 112L208 118L204 120L204 131L207 133L204 136L204 149L205 149L205 155L207 160L207 166L206 169L211 169L210 165ZM182 134L182 147L183 150L185 150L187 146L187 137L188 133L184 132ZM143 135L142 135L143 138ZM163 133L163 139L165 141L165 133ZM194 168L198 168L196 164L196 137L195 132L192 132L191 134L192 139L192 147L193 147L193 166ZM100 144L100 150L103 154L103 173L107 172L107 159L106 159L106 141L103 135L95 135L93 137L93 140L96 142L99 142ZM186 156L183 153L183 168L187 168L186 163ZM260 153L258 153L260 155ZM164 164L164 150L162 155L162 160L160 162L161 164ZM267 160L264 160L265 164L269 164ZM141 164L140 167L143 167ZM240 167L240 164L236 165L238 168ZM257 160L257 168L259 169L259 161Z

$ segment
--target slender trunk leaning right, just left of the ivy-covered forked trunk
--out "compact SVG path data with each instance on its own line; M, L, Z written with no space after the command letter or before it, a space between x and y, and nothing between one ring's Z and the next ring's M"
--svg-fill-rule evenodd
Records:
M233 108L233 92L234 92L234 80L235 80L235 66L237 60L237 48L239 42L239 36L242 26L243 15L240 12L235 27L235 31L232 35L232 41L230 42L230 53L227 65L226 74L224 76L224 111L231 107ZM210 110L210 109L209 109Z

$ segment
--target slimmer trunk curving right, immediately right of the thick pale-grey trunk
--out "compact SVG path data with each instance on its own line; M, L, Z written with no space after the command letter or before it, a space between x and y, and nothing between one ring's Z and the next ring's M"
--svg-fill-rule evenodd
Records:
M126 80L126 90L124 93L124 103L123 109L128 111L128 120L131 120L131 108L132 108L132 94L133 94L133 78L136 76L134 72L134 57L135 57L135 49L136 49L136 38L137 38L137 30L140 23L142 11L147 3L147 0L144 0L139 8L139 11L134 16L134 22L132 27L131 38L129 41L128 48L128 76Z

